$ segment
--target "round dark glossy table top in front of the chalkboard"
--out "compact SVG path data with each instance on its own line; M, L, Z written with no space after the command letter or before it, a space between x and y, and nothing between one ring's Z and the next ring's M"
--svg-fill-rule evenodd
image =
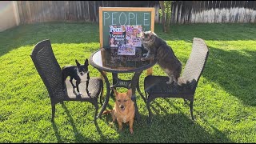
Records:
M90 55L90 65L99 70L112 73L133 73L146 70L156 63L156 61L141 61L136 55L111 55L110 50L97 50Z

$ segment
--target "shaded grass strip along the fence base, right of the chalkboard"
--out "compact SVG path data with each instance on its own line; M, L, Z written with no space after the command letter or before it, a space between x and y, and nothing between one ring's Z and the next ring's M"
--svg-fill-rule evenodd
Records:
M205 23L171 25L170 33L162 32L162 25L155 24L154 32L166 41L184 40L193 42L193 38L206 41L256 40L256 25L253 23Z

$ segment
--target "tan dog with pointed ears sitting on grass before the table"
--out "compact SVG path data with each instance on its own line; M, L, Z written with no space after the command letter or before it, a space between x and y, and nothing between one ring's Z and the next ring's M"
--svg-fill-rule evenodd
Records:
M122 131L122 122L129 122L130 134L134 134L134 115L135 107L134 102L131 100L132 90L128 90L126 93L118 93L114 89L115 103L113 110L105 110L103 114L111 113L112 120L118 121L118 130Z

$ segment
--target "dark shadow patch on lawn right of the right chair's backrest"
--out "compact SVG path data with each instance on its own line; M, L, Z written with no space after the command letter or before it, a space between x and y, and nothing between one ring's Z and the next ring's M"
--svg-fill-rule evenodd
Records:
M256 51L209 48L209 59L202 76L217 83L244 104L256 106Z

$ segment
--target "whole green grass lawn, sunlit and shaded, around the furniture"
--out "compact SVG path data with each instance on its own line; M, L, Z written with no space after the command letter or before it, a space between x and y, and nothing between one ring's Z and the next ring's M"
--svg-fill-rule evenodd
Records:
M182 98L158 98L151 102L153 122L148 126L146 104L138 94L142 120L134 122L134 135L128 126L122 133L117 123L109 126L110 115L103 115L98 128L94 126L94 106L89 102L58 104L55 122L50 122L50 98L30 58L34 45L49 38L61 67L74 65L76 58L83 62L99 49L98 23L52 22L0 33L0 142L256 142L256 25L171 26L170 34L156 25L155 33L172 46L183 66L194 37L209 46L194 98L196 122ZM93 66L89 68L91 77L100 76ZM153 70L165 75L157 65ZM145 77L146 71L141 88ZM110 98L107 108L113 105Z

